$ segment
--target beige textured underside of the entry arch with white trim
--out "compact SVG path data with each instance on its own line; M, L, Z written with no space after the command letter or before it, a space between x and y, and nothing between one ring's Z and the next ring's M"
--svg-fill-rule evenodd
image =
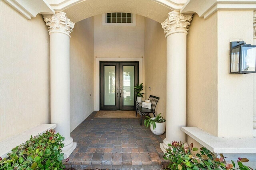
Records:
M76 3L66 4L66 7L59 5L61 8L58 9L57 6L51 4L55 12L65 12L70 21L74 23L108 12L138 14L162 23L168 17L169 12L179 11L182 5L171 3L170 0L77 0Z

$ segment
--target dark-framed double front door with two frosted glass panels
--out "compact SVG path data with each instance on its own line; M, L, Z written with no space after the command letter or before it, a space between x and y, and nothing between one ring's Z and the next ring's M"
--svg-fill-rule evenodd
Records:
M100 62L100 109L134 110L138 62Z

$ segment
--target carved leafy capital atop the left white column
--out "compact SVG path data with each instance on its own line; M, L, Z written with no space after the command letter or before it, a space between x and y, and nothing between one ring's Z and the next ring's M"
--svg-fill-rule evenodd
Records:
M49 34L51 32L62 32L70 37L70 33L73 31L75 23L68 19L66 13L59 12L57 14L44 14L44 21L48 27Z

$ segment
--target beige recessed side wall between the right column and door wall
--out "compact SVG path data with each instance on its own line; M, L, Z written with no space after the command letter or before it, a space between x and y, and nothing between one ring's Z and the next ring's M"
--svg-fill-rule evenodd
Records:
M151 90L149 90L151 87ZM145 18L145 99L160 98L156 113L166 117L166 38L162 25Z

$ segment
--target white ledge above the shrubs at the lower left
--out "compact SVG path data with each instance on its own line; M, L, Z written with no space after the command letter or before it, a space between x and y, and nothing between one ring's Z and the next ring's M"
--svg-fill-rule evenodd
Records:
M31 135L34 137L44 133L48 129L54 129L55 127L56 124L41 124L19 133L18 135L14 135L4 141L0 141L0 157L6 157L14 147L28 141Z

